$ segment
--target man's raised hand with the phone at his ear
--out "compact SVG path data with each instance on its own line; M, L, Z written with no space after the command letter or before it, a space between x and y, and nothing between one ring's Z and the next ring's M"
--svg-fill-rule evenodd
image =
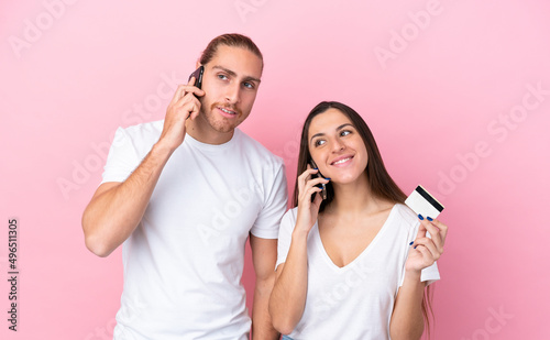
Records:
M198 98L205 96L205 91L195 86L197 81L195 76L195 73L191 74L187 85L177 87L174 98L166 109L164 128L157 144L167 147L169 152L176 150L184 142L186 120L197 118L200 112L201 103ZM202 80L201 74L199 80Z

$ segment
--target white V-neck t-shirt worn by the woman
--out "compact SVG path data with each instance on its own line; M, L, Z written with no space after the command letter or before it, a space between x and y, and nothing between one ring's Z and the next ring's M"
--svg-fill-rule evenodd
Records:
M297 211L287 211L280 221L277 265L286 261ZM307 240L306 308L288 336L294 340L389 339L389 319L405 277L409 243L419 226L409 208L395 205L369 246L353 262L339 267L324 251L316 222ZM422 282L437 279L436 263L422 271Z

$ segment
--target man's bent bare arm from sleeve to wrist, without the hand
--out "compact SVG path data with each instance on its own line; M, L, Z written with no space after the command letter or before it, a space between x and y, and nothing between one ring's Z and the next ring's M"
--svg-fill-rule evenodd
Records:
M172 151L160 143L135 171L120 184L103 184L82 215L86 245L99 256L107 256L124 242L140 223L161 173Z

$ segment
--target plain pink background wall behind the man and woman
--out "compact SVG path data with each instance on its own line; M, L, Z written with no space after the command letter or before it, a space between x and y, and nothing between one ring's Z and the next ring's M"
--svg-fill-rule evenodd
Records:
M226 32L264 53L242 130L285 160L289 186L305 116L339 100L365 118L406 193L422 184L447 207L435 339L550 338L548 1L3 0L1 339L112 337L121 252L88 252L81 212L117 127L162 119L166 79L186 79Z

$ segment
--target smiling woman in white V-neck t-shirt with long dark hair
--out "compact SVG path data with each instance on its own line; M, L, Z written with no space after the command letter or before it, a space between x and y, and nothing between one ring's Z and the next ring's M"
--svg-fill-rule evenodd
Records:
M309 113L298 174L270 300L283 339L419 339L447 226L403 205L369 127L345 105Z

